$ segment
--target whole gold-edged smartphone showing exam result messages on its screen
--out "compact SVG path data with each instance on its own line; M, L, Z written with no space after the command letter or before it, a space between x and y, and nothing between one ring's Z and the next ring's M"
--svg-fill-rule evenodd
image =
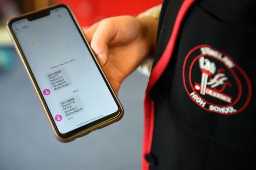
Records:
M67 5L12 18L7 28L60 142L122 118L122 105Z

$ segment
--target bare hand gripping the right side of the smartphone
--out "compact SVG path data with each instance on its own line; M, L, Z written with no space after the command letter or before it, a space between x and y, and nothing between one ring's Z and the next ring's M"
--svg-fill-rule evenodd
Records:
M150 16L117 16L85 31L116 94L123 80L154 51L157 28L158 21Z

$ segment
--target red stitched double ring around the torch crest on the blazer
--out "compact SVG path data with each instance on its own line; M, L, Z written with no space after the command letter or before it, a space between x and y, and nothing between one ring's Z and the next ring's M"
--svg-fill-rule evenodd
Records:
M214 110L209 110L208 108L205 108L204 106L201 106L198 102L196 102L193 98L192 98L192 96L190 95L190 92L188 91L188 87L187 86L190 86L190 88L192 89L192 92L195 92L195 94L197 94L197 92L196 92L196 90L194 89L194 86L192 86L192 84L191 84L191 70L192 70L192 66L194 65L194 62L195 61L198 61L198 60L196 60L196 59L193 59L192 60L192 62L190 63L190 66L189 66L189 71L188 71L188 75L187 75L187 77L188 77L188 79L189 79L189 85L187 85L186 84L186 77L185 77L185 70L186 70L186 65L188 64L187 63L187 60L188 60L188 58L191 56L191 54L193 53L193 52L195 52L196 50L198 50L198 49L200 49L200 48L202 48L202 47L206 47L206 48L210 48L211 50L214 50L214 51L217 51L217 52L220 52L221 54L224 54L224 56L226 56L226 57L228 57L232 62L233 62L233 64L234 64L234 68L236 68L237 70L238 70L238 72L240 72L240 74L244 77L244 80L246 81L246 85L247 85L247 87L248 87L248 94L247 94L247 98L246 98L246 101L244 102L244 104L241 106L241 108L239 109L239 110L236 110L235 112L232 112L232 113L228 113L228 114L226 114L226 113L220 113L220 112L215 112ZM196 58L199 58L198 56L210 56L209 54L200 54L200 55L197 55L196 56ZM214 56L210 56L210 57L214 57ZM214 59L216 59L216 60L218 60L219 62L222 62L222 64L224 64L223 63L223 61L221 61L220 59L218 59L218 58L216 58L216 57L214 57ZM231 69L231 68L230 68ZM231 69L232 70L232 69ZM229 70L230 71L230 70ZM234 75L236 75L236 76L234 76L234 79L236 80L236 82L238 83L238 89L239 88L241 88L241 94L239 93L238 94L238 97L237 97L237 99L236 100L240 100L240 97L242 96L242 84L241 84L241 82L240 82L240 80L238 79L238 76L237 76L237 74L235 74L234 73L234 70L232 70L233 71L233 73L231 72L231 74L232 74L232 76L233 76L233 74ZM236 77L237 77L237 79L236 79ZM250 100L251 100L251 96L252 96L252 84L251 84L251 82L250 82L250 79L248 78L248 76L247 76L247 74L244 72L244 70L242 70L242 68L240 68L240 66L238 66L238 64L236 64L236 62L234 62L234 60L233 60L233 58L231 58L228 54L226 54L225 52L222 52L222 51L220 51L220 50L217 50L216 48L213 48L212 46L209 46L209 45L206 45L206 44L202 44L202 45L199 45L199 46L196 46L195 48L193 48L192 50L190 50L189 52L188 52L188 54L186 55L186 57L185 57L185 59L184 59L184 63L183 63L183 66L182 66L182 79L183 79L183 85L184 85L184 88L185 88L185 91L186 91L186 93L188 94L188 96L190 97L190 99L194 102L194 103L196 103L198 106L200 106L201 108L203 108L204 110L206 110L206 111L208 111L208 112L213 112L213 113L216 113L216 114L222 114L222 115L234 115L234 114L238 114L238 113L240 113L240 112L242 112L245 108L246 108L246 106L248 106L248 104L249 104L249 102L250 102ZM241 85L241 86L240 86ZM240 95L240 96L239 96ZM198 96L200 97L200 95L198 94ZM201 98L204 102L207 102L204 98ZM236 103L238 102L238 101L235 101ZM207 102L208 104L210 103L210 102ZM232 102L232 104L233 104L234 102ZM235 103L235 104L236 104ZM210 103L211 104L211 103ZM233 105L230 105L230 106L234 106L235 104L233 104ZM229 106L229 105L226 105L226 106ZM214 106L220 106L220 105L218 105L218 104L214 104Z

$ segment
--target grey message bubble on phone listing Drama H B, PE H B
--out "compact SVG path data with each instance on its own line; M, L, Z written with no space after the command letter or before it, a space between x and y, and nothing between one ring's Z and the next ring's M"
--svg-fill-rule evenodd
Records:
M66 118L84 111L84 105L78 95L60 101L59 106Z

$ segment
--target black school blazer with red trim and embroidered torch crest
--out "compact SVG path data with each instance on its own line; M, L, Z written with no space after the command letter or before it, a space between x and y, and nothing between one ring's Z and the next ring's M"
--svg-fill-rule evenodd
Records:
M160 6L142 14L159 18L139 68L151 70L142 170L256 170L255 7L164 0L159 17Z

